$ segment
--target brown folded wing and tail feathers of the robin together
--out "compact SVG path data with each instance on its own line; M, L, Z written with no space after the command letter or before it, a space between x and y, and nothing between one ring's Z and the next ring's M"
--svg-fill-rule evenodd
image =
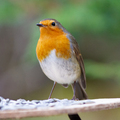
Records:
M68 39L70 40L70 46L72 49L72 54L76 57L80 69L81 69L81 75L80 79L72 84L73 91L75 91L75 97L79 100L87 99L87 94L85 92L86 88L86 76L85 76L85 68L84 68L84 62L82 55L79 50L79 46L75 40L75 38L71 35L67 35Z

